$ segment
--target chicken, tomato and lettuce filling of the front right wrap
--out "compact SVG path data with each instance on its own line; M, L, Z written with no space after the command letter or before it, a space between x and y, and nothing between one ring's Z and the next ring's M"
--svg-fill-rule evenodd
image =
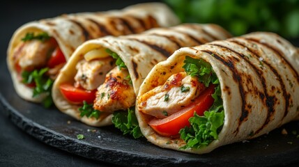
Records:
M185 71L138 99L148 125L170 138L182 138L185 148L201 148L218 138L224 123L220 83L204 59L185 56Z

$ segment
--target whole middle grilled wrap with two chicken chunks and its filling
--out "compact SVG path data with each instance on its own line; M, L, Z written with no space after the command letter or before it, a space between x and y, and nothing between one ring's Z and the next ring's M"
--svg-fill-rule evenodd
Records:
M132 129L138 125L136 95L155 64L181 47L229 37L215 24L181 24L89 40L77 48L54 82L54 104L91 126L111 125L113 116L116 127L130 133L131 122L126 121L134 122Z

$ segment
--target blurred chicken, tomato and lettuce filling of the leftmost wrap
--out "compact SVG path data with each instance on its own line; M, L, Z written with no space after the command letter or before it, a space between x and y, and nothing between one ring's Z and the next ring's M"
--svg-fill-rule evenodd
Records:
M66 58L56 40L45 32L26 33L13 51L13 65L17 78L33 88L33 97L46 95L46 107L52 105L51 89Z

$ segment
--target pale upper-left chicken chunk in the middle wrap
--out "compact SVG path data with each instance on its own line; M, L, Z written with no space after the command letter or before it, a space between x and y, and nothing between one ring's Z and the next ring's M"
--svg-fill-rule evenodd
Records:
M79 84L87 90L98 88L105 81L105 74L112 70L114 64L114 59L111 56L92 61L85 59L79 61L76 65L75 84Z

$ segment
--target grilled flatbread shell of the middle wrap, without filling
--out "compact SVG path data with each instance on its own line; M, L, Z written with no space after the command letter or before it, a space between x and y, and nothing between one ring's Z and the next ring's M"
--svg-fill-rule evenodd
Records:
M59 90L61 84L67 83L74 85L74 77L78 71L76 66L79 64L79 61L84 59L86 53L89 53L89 51L94 49L109 49L118 54L128 68L128 74L130 74L130 79L132 81L131 86L133 91L130 95L126 95L125 100L128 100L128 98L131 97L133 100L132 106L134 106L139 86L156 63L164 61L176 49L181 47L200 45L208 41L229 38L229 36L227 31L215 24L181 24L170 28L151 29L140 34L119 37L109 36L98 38L96 40L89 40L77 48L54 82L52 89L54 104L63 113L66 113L77 120L81 120L87 125L98 127L111 125L112 111L100 113L100 118L98 119L93 117L87 118L86 116L81 117L79 107L81 107L82 104L72 104L72 102L69 102L66 97L63 96L61 90ZM107 55L107 52L104 54ZM99 73L102 74L102 72ZM110 73L105 73L107 74L106 80ZM84 77L86 77L86 75L84 75ZM112 78L112 80L116 81L117 78ZM102 83L98 83L96 88L100 87L100 85L102 85ZM103 90L101 92L98 88L98 93L102 93L102 97L99 97L100 99L107 101L113 99L113 93L110 94L111 96L107 95L109 94L109 90ZM121 100L116 101L119 102ZM129 107L130 106L128 106L128 108Z

